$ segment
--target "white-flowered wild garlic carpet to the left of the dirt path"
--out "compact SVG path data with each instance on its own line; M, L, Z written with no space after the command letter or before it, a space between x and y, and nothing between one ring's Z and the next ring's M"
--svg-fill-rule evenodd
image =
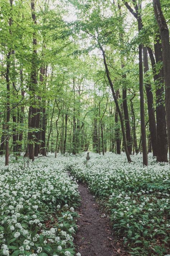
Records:
M1 166L0 255L75 255L80 196L66 161L44 157L26 168L20 161Z

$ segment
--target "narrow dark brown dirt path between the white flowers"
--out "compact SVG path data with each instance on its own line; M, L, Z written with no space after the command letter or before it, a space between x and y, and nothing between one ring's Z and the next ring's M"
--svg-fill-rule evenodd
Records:
M77 221L79 228L74 240L77 251L81 256L128 255L123 247L113 240L109 220L107 217L101 217L103 214L98 203L86 185L79 184L79 191L82 202L79 209L80 218Z

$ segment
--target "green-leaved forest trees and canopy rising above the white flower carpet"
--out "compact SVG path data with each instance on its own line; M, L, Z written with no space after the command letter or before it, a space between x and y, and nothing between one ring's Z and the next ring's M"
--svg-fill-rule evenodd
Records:
M169 5L153 3L1 0L6 165L88 150L168 161Z

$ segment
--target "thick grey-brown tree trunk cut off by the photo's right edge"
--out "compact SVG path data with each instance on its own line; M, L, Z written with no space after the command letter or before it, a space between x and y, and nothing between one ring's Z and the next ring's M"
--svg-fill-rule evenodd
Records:
M169 29L165 17L161 10L160 0L153 0L155 17L160 29L161 44L162 44L162 59L164 66L164 81L165 81L165 108L166 108L166 123L167 137L170 157L170 43Z

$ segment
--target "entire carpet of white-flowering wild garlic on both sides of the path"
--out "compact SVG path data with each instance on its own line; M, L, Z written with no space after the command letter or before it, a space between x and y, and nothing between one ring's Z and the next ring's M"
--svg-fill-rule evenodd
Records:
M169 164L151 155L147 167L140 155L132 163L124 154L90 156L52 155L25 169L21 162L1 164L0 255L80 256L73 243L80 204L76 180L103 203L114 234L132 255L170 253Z

